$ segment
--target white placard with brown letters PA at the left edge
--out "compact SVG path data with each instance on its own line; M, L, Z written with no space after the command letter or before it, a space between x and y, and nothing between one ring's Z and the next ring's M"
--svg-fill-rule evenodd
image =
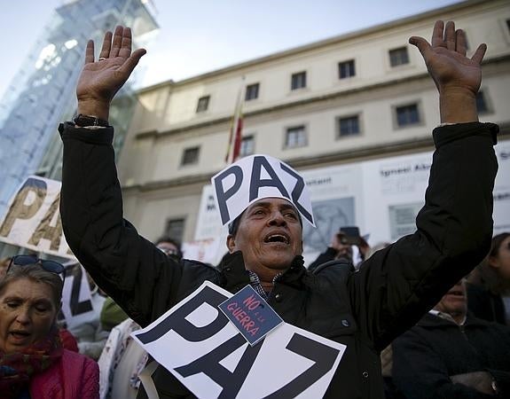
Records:
M60 221L61 183L28 176L14 194L0 224L0 241L74 259Z

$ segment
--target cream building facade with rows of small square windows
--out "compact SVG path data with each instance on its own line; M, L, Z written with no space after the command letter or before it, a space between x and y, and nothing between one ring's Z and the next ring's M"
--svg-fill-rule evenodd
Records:
M147 239L165 233L184 242L219 237L204 227L214 208L208 184L226 166L242 88L242 153L284 160L311 184L318 231L305 230L308 253L326 248L340 225L358 225L372 245L412 231L439 112L434 82L407 41L429 38L435 20L454 20L466 30L468 56L479 43L488 45L478 106L481 121L501 128L494 219L496 232L510 231L505 0L454 4L141 90L119 160L125 217Z

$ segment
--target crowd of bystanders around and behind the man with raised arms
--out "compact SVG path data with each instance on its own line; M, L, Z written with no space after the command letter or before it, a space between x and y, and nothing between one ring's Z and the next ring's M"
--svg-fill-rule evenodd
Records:
M352 258L353 245L347 244L344 237L342 231L335 233L330 246L307 266L308 270L316 273L320 272L319 267L335 268L342 262L358 268L360 264ZM176 239L162 237L155 245L177 260L183 257ZM356 244L361 262L389 245L369 246L363 238ZM338 260L341 262L335 262ZM4 339L4 354L12 348L22 348L22 353L35 364L34 372L10 379L9 388L0 385L1 392L9 389L13 394L10 397L24 397L23 389L29 387L32 396L26 397L59 397L53 396L51 389L67 379L64 387L72 389L74 385L83 398L96 397L97 390L102 399L136 398L139 375L149 360L145 350L130 336L141 328L140 325L101 292L91 278L88 279L94 311L90 317L70 331L58 323L50 325L48 321L55 316L61 300L62 283L53 276L55 274L62 275L63 267L57 262L40 260L35 254L5 258L0 262L0 303L8 298L13 301L8 306L17 309L25 306L24 302L28 306L41 306L38 301L51 298L43 302L49 317L39 316L43 307L35 312L32 321L35 328L31 332L34 338L31 339L25 338L28 328L32 327L24 330L22 314L12 317L0 310L0 325L6 324L8 333L19 336L8 340L5 334L0 335L0 340ZM20 295L20 286L25 296ZM94 299L96 296L100 299ZM509 301L510 233L504 232L492 239L489 254L475 270L452 286L416 325L381 352L386 397L504 397L495 393L506 393L510 389ZM12 325L15 320L19 325ZM41 337L45 341L39 342ZM38 368L37 362L42 362L43 356L34 356L35 351L43 351L51 359L48 366ZM77 367L74 372L69 373L68 369L59 374L59 378L55 377L57 371L64 372L71 365ZM4 366L17 371L24 367L17 356L3 359L0 367ZM8 374L4 376L9 377ZM23 380L27 383L25 388L22 388Z

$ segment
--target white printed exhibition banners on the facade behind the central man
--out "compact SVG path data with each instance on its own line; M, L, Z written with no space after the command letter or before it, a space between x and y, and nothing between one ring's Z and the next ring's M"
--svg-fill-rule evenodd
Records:
M494 234L498 234L510 231L510 141L500 141L495 151L499 168L493 218ZM415 219L425 203L432 155L416 153L300 172L309 185L317 226L303 225L305 260L311 262L324 251L342 225L357 225L363 235L370 234L371 246L416 231ZM210 185L204 186L197 239L222 234L212 192Z

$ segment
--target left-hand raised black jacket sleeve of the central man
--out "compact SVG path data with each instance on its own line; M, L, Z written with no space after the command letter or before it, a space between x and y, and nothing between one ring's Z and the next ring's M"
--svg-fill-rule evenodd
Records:
M60 215L67 244L98 286L139 325L175 301L183 266L122 218L114 129L60 125L64 143Z

